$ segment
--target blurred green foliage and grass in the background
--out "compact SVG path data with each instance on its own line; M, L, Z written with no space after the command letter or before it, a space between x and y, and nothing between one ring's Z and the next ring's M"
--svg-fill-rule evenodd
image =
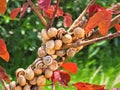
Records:
M72 14L73 19L75 19L89 1L61 0L60 6L65 12ZM10 11L22 6L24 2L24 0L8 0L6 14L4 16L0 15L0 38L5 40L11 57L8 63L0 58L0 65L5 68L12 79L14 79L17 68L26 68L37 57L36 52L41 44L37 35L44 28L32 11L27 12L23 18L18 17L15 20L11 20ZM117 2L119 0L96 0L97 4L106 8ZM60 21L62 19L55 19L55 26L57 20ZM119 48L120 38L85 47L69 60L76 62L79 66L79 72L76 75L72 75L71 83L84 81L95 84L107 84L107 88L110 88L114 79L120 74ZM120 87L120 85L117 85L117 87ZM61 88L61 86L58 86L57 90ZM75 89L74 87L70 88L68 90Z

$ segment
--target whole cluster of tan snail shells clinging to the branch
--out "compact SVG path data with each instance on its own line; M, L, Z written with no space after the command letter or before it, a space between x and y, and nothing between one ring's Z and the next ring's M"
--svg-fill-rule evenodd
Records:
M16 70L17 81L8 84L8 90L34 90L33 88L46 85L46 80L52 77L62 63L73 57L83 46L63 49L63 45L83 40L84 29L77 27L68 33L64 28L54 27L41 31L42 45L38 49L38 58L26 70Z

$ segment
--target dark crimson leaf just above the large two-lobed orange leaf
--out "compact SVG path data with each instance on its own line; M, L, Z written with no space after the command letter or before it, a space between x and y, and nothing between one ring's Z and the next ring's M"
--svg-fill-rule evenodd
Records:
M101 10L104 10L105 8L104 7L101 7L100 5L98 5L98 4L93 4L93 5L91 5L90 7L89 7L89 18L91 17L91 16L93 16L93 14L95 13L95 12L98 12L98 11L101 11Z

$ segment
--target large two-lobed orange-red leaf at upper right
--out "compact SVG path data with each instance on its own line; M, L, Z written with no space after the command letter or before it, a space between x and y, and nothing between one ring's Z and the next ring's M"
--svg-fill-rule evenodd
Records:
M100 33L102 35L106 35L108 33L111 18L112 18L111 11L101 10L101 11L97 12L89 19L89 21L85 27L85 33L87 34L93 28L98 26Z

